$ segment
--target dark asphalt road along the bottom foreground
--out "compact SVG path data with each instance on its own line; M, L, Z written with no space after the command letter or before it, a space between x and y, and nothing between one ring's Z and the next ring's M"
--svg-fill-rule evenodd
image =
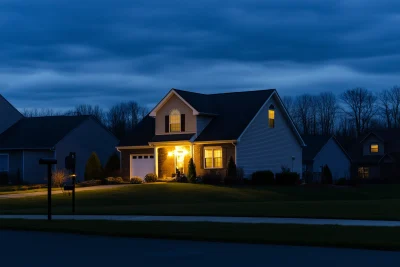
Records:
M400 252L0 231L2 266L399 266Z

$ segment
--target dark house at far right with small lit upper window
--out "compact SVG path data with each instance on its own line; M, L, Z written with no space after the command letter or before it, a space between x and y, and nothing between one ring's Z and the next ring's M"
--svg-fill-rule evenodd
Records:
M352 158L352 177L400 180L400 129L374 130L341 141Z

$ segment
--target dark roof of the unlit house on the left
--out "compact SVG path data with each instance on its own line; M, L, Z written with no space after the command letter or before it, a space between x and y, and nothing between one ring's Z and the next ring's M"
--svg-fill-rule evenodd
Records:
M91 116L22 118L2 134L0 149L50 149Z

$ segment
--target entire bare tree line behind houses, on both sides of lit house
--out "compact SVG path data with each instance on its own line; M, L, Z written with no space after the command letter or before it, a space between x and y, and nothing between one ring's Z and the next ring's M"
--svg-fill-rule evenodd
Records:
M371 129L400 128L400 87L379 93L357 87L335 95L332 92L285 96L282 99L296 127L304 135L355 137ZM78 105L66 112L53 109L24 110L26 117L92 115L119 139L129 134L149 112L135 101L121 102L110 109Z

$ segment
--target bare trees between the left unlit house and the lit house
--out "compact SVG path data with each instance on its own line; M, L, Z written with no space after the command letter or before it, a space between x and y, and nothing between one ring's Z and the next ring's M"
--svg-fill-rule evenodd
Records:
M109 109L103 109L98 105L82 104L64 112L57 112L53 109L25 109L22 114L25 117L91 115L117 138L122 139L148 112L146 107L137 102L128 101L115 104Z

